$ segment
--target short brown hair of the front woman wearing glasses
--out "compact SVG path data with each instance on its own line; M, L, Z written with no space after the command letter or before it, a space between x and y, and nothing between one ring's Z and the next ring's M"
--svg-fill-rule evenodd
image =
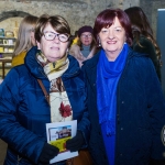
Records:
M43 14L38 18L35 29L35 40L41 42L41 37L43 36L43 31L47 24L51 24L52 28L61 33L70 35L70 28L67 21L61 15L48 15Z

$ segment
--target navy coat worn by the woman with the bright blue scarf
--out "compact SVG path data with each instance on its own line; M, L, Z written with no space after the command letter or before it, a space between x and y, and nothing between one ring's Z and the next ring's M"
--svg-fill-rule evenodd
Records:
M85 62L87 107L91 122L89 150L95 165L108 165L97 109L97 64L99 55ZM165 101L152 61L129 50L117 87L116 165L147 165L162 160L165 145Z

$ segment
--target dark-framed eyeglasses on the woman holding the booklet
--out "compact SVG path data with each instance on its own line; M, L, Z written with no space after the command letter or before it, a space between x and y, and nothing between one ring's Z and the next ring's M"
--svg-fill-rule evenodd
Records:
M63 43L67 42L69 40L69 36L67 34L57 34L54 32L44 32L45 40L53 41L56 36L58 40Z

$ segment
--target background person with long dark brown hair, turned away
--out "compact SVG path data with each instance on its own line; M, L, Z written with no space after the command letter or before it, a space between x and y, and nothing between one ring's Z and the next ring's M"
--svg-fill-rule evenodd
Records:
M157 76L161 80L161 50L153 36L152 28L144 11L140 7L131 7L124 10L131 21L133 44L135 52L147 54L152 59Z

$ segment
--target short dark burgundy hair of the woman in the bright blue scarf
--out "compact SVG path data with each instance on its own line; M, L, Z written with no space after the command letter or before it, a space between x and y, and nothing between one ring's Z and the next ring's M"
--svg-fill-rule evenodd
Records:
M127 13L121 9L106 9L98 14L94 25L94 37L97 41L97 45L99 45L98 34L100 33L102 28L111 26L116 16L119 19L122 28L125 30L127 43L132 45L132 32L131 32L131 23Z

